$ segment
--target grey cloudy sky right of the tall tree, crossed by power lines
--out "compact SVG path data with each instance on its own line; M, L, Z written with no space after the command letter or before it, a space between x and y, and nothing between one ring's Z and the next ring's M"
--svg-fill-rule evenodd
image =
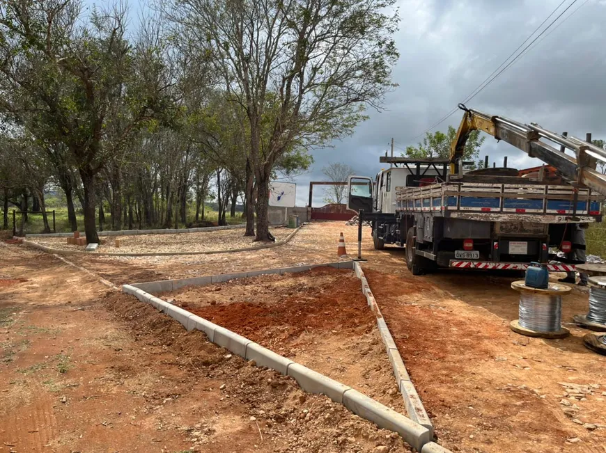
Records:
M358 125L352 137L313 152L313 169L297 178L297 204L306 202L309 180L325 179L321 168L329 162L345 162L358 174L374 175L381 168L378 157L392 136L398 148L419 141L414 136L462 102L560 1L400 1L396 42L401 58L394 68L399 87L387 96L385 110L369 111L371 118ZM547 31L545 39L539 38L536 47L467 105L580 138L586 132L606 138L604 17L606 1L578 0L552 33ZM433 130L457 127L460 118L457 112ZM402 152L398 148L396 154ZM510 166L534 164L525 153L490 137L484 142L484 154L499 163L508 155ZM314 204L322 198L318 191Z

